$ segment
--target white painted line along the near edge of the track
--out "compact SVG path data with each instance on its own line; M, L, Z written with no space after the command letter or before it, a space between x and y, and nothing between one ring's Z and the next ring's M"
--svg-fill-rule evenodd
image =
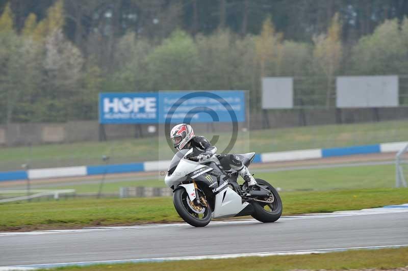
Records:
M307 254L321 254L321 253L329 253L329 252L342 252L342 251L347 251L347 250L386 249L386 248L404 248L404 247L408 247L408 245L370 246L370 247L314 249L314 250L292 250L292 251L274 251L274 252L261 252L261 253L238 253L238 254L203 255L203 256L186 256L186 257L125 259L125 260L110 260L110 261L45 263L45 264L4 266L4 267L0 267L0 271L33 270L36 268L57 268L57 267L71 266L71 265L84 266L84 265L92 265L92 264L118 264L118 263L163 262L163 261L182 261L182 260L231 259L231 258L239 258L239 257L266 257L266 256L280 256L280 255L307 255Z

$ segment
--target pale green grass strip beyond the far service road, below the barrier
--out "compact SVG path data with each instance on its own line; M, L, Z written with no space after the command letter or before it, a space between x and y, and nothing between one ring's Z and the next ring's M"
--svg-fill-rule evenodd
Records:
M256 170L254 170L256 172ZM361 166L328 169L291 170L279 172L260 172L254 176L268 180L275 187L284 190L300 189L359 189L393 187L395 184L395 166ZM119 187L166 187L158 177L146 180L120 181L105 183L103 192L119 192ZM150 179L151 178L151 179ZM75 189L77 193L97 192L99 183L55 186L50 184L42 189ZM1 194L1 192L0 192Z

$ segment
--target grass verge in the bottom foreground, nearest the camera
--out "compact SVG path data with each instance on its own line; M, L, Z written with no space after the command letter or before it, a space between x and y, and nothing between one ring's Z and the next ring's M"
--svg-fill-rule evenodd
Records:
M126 263L71 266L57 270L290 270L290 269L392 269L408 265L408 248L352 250L312 255L242 257L222 260L190 260L158 263Z

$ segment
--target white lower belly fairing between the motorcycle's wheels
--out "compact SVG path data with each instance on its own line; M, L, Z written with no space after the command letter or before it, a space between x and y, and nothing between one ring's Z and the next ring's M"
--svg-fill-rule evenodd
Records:
M215 196L215 206L212 217L217 219L234 216L242 211L248 204L248 202L242 204L241 196L235 193L230 187L227 187Z

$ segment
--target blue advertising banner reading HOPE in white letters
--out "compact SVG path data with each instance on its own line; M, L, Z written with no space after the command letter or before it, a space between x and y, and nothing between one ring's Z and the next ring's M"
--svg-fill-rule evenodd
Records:
M243 122L244 91L100 93L99 123Z

